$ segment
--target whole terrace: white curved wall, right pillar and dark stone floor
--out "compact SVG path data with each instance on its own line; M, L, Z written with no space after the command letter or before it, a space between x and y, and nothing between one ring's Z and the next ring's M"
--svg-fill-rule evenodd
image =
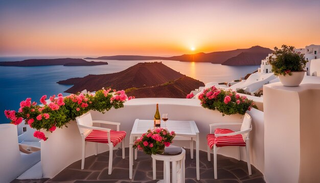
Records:
M200 131L200 180L196 180L195 159L186 156L186 182L316 182L320 164L320 149L309 144L318 143L320 119L318 101L319 84L301 84L284 87L280 83L264 86L263 110L248 111L252 117L250 133L250 161L253 175L247 175L245 149L241 148L239 162L236 147L223 147L218 151L218 179L213 179L213 161L207 159L209 124L242 122L242 116L222 117L218 111L204 109L194 99L146 98L125 103L124 108L111 109L105 114L93 111L94 120L120 122L127 132L125 146L129 147L129 134L135 119L151 119L155 103L161 113L169 113L169 120L194 120ZM168 122L170 123L170 122ZM129 179L128 149L126 158L115 150L113 171L107 174L107 146L98 145L94 156L93 143L86 145L85 169L80 170L81 137L75 122L68 128L45 132L48 141L41 141L41 165L47 179L18 180L13 182L156 182L152 180L151 158L139 152ZM292 134L298 134L293 135ZM175 146L189 148L187 141L175 141ZM211 154L213 155L213 154ZM162 178L162 165L157 168L157 178Z

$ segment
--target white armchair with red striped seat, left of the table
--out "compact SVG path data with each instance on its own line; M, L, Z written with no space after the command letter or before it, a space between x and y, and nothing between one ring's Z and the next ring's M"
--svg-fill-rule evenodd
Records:
M85 141L95 143L95 155L97 155L98 151L97 143L105 143L109 146L108 174L110 175L112 171L112 149L120 142L122 147L122 158L125 158L124 138L126 136L126 132L119 131L120 123L109 121L93 121L90 112L87 112L84 115L77 117L76 120L82 138L81 169L84 169ZM94 123L117 125L117 131L111 130L110 128L95 127L93 126Z

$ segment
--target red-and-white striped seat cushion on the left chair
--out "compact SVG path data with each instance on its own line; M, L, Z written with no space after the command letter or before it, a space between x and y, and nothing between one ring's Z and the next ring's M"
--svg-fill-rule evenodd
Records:
M125 138L126 134L127 133L125 131L110 130L110 141L112 142L113 147L120 143ZM85 141L108 143L108 134L106 131L92 130L85 138Z

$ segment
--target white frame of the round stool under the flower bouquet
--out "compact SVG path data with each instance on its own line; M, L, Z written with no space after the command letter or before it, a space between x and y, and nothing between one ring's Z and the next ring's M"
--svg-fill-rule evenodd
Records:
M155 161L160 160L160 161L164 161L164 179L159 180L158 182L170 183L170 162L172 162L172 182L185 183L186 150L184 148L181 148L181 149L182 149L181 154L177 154L177 155L151 154L153 180L156 179Z

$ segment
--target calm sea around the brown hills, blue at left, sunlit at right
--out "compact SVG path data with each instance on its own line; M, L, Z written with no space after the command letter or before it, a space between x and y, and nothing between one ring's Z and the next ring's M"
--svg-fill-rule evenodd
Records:
M0 57L0 61L20 61L35 57ZM62 57L42 57L62 58ZM75 57L73 57L75 58ZM92 61L92 60L89 60ZM63 93L71 85L60 85L57 81L74 77L84 77L89 74L109 74L125 70L126 68L147 61L107 61L108 65L97 66L0 66L0 123L9 123L4 115L5 109L17 110L20 101L32 98L39 103L42 95L52 96ZM156 60L150 60L153 62ZM159 60L158 60L159 61ZM225 66L211 63L193 63L161 60L173 70L185 74L204 83L217 81L225 82L244 77L257 70L258 66Z

